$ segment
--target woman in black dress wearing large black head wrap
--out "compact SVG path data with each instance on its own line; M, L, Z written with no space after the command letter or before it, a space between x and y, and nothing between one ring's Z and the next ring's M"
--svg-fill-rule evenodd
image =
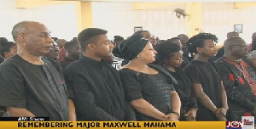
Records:
M143 36L131 36L113 49L113 55L130 60L119 70L125 97L136 110L137 121L178 121L180 99L177 81L154 62L153 46Z

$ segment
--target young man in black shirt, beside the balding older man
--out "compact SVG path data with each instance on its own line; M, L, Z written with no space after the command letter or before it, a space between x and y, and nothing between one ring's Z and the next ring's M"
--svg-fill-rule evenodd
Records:
M70 98L78 121L134 121L131 105L119 73L103 59L112 55L107 32L97 28L81 31L78 41L83 56L65 69Z

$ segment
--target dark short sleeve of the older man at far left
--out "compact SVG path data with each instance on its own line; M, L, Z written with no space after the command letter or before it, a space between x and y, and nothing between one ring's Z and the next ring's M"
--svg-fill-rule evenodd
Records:
M26 109L26 92L20 71L12 64L0 67L0 106Z

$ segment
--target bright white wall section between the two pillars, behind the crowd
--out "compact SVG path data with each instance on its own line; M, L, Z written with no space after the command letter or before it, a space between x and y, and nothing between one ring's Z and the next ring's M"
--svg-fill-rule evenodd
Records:
M185 32L186 20L173 13L175 7L133 10L132 3L93 3L94 26L108 30L108 38L131 36L135 26L151 31L160 39L168 39ZM184 5L178 6L184 8Z

